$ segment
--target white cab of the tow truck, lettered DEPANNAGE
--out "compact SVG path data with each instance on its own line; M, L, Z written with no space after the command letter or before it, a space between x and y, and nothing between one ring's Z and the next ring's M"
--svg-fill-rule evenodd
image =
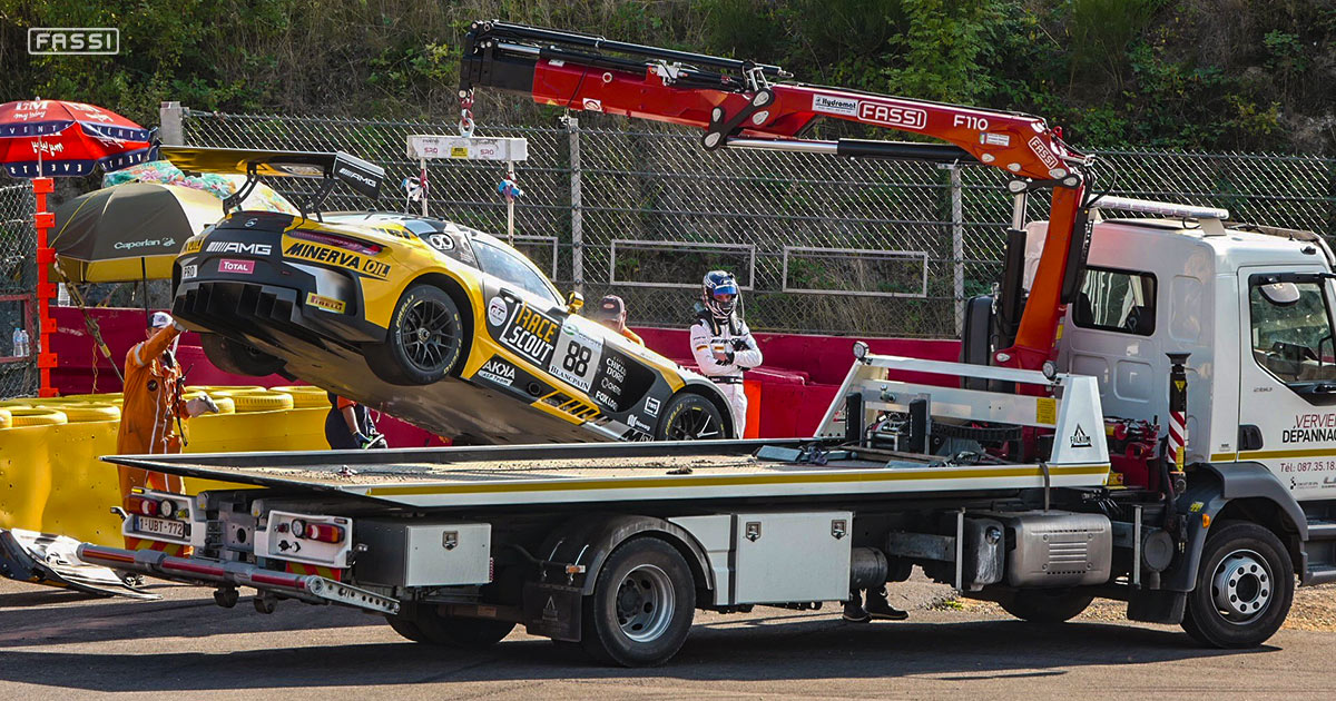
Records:
M1046 228L1026 227L1026 284ZM1113 430L1142 421L1166 435L1169 354L1189 354L1185 463L1202 469L1188 471L1180 506L1212 518L1252 510L1287 542L1304 583L1336 581L1332 262L1307 231L1097 222L1057 340L1058 370L1098 382L1114 481L1138 487L1160 475L1120 461Z

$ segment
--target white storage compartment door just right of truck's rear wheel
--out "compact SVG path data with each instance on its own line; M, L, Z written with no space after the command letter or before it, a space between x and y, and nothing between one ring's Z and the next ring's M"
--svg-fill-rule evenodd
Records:
M844 601L850 511L733 514L733 604Z

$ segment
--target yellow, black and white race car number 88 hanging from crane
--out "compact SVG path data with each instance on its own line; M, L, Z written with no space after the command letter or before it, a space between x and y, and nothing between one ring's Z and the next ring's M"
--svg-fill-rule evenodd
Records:
M172 311L208 359L283 373L464 442L733 437L701 375L585 319L482 231L390 212L315 214L346 154L164 148L184 171L322 178L306 215L234 211L186 242Z

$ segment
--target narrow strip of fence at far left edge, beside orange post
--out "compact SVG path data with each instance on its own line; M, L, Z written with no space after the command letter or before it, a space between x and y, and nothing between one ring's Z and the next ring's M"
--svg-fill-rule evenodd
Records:
M36 199L31 183L0 186L0 399L37 391L36 363ZM15 331L29 338L15 347Z

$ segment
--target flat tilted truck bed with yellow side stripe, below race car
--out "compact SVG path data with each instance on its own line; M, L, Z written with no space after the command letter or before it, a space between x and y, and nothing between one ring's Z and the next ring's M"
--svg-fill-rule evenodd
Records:
M420 509L538 503L892 497L1094 487L1108 463L953 465L852 455L824 465L764 459L807 441L489 446L385 451L123 455L111 462L285 491L323 491Z

